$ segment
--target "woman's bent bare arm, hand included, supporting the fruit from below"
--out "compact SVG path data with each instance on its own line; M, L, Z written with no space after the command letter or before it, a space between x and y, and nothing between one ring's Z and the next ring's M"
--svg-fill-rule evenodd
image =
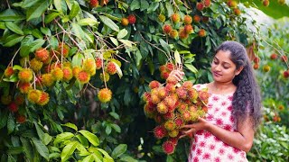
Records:
M239 148L248 152L253 145L254 130L250 118L247 118L242 123L238 123L238 131L229 131L214 125L205 119L200 118L198 122L182 126L190 130L182 131L184 134L181 136L187 136L191 133L195 133L198 130L208 130L211 134L216 136L228 145Z

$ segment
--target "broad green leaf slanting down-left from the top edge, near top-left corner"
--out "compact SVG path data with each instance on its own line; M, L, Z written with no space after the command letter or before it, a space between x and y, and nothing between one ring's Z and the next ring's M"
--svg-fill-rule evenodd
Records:
M33 7L29 7L27 10L27 21L30 21L35 18L39 18L42 14L47 10L50 5L50 0L39 1L33 5Z

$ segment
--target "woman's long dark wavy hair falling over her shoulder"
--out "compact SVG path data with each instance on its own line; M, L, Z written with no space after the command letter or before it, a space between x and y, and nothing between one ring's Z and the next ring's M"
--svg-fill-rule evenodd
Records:
M247 51L244 46L237 41L224 41L216 49L230 51L230 59L235 63L237 69L244 67L238 76L233 79L233 84L237 90L233 95L233 117L237 121L244 121L249 115L253 121L253 128L256 130L261 121L261 96L259 86L256 84L256 78L253 73L253 67L247 57Z

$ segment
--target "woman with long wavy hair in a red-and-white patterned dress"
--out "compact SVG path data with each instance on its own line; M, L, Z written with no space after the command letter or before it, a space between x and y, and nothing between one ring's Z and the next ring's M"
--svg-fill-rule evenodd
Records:
M184 125L182 137L194 134L189 161L247 161L261 119L261 99L244 46L225 41L211 63L214 81L194 85L210 93L206 119ZM179 81L182 71L170 74Z

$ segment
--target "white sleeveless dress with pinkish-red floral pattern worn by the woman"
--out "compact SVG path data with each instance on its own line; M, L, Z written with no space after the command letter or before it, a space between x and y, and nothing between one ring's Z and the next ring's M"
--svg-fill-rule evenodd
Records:
M194 88L197 90L207 88L207 84L194 85ZM232 99L233 94L210 94L206 120L223 129L236 131L235 120L231 114ZM247 162L247 157L245 151L229 146L207 130L200 130L196 132L191 141L188 161Z

